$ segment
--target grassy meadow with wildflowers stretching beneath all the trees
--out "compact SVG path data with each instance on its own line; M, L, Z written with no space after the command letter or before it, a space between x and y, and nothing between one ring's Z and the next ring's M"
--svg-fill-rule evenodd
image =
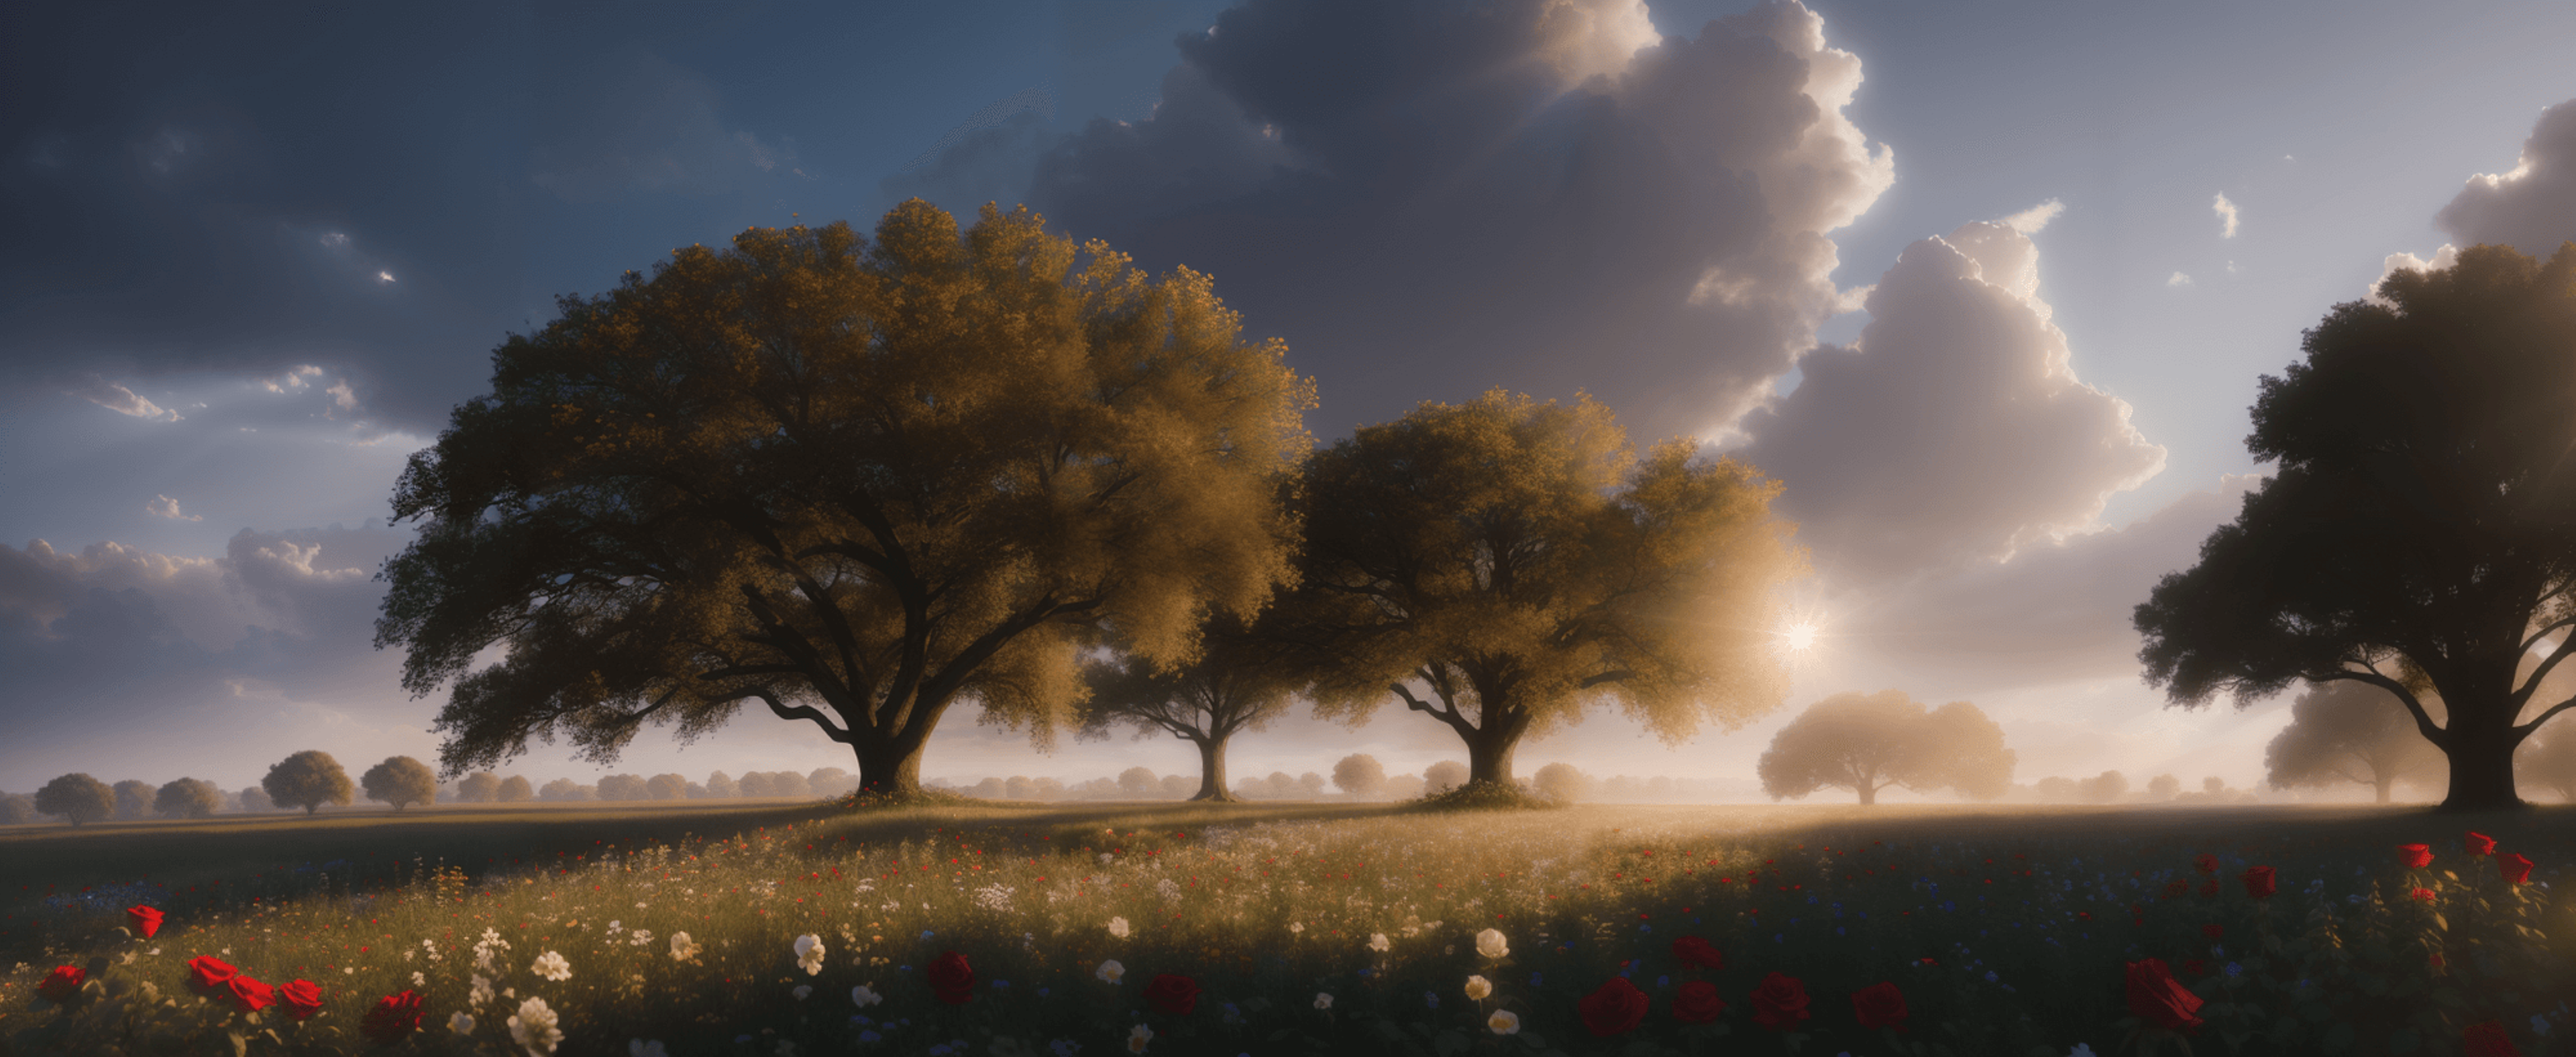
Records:
M2532 858L2532 884L2470 856L2468 830ZM2434 864L2403 869L2401 843ZM464 874L420 879L440 856ZM672 1054L2110 1057L2161 1039L2133 1039L2123 985L2154 956L2205 1000L2197 1052L2445 1054L2499 1021L2522 1054L2576 1054L2566 864L2566 807L683 802L18 828L0 830L0 879L26 884L5 928L52 949L0 977L0 1052L229 1034L345 1052L376 998L415 990L417 1052L544 1049L551 1023L559 1052ZM2277 869L2275 895L2244 887L2251 866ZM75 879L111 897L77 900ZM129 889L103 882L134 879L167 884L147 944L111 931ZM1510 951L1479 951L1486 928ZM183 987L198 954L314 980L322 1016L201 1003ZM33 998L95 956L93 1000ZM1772 1003L1772 975L1806 1018ZM1646 1016L1620 1029L1631 985ZM1909 1031L1870 1026L1886 995L1875 1016L1852 995L1873 985ZM1685 1023L1710 1000L1726 1011Z

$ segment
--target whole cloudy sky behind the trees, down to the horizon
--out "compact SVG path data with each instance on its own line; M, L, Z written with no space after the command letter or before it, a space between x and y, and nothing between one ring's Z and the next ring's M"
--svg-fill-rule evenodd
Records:
M1028 204L1216 278L1319 441L1492 387L1785 482L1777 712L1520 768L1708 779L1842 691L1973 701L2020 781L2262 779L2130 608L2267 467L2262 374L2396 266L2576 240L2576 8L1741 0L0 8L0 789L435 761L374 650L389 495L564 294L747 227ZM1234 773L1463 748L1383 709ZM956 709L925 776L1195 773ZM809 771L747 714L531 779Z

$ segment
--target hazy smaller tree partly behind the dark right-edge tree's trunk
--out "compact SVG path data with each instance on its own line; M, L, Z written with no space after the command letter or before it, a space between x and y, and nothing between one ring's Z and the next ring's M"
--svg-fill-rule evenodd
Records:
M2439 699L2421 701L2439 709ZM2290 724L2272 735L2262 763L2272 789L2357 781L2380 804L2398 781L2442 776L2442 750L2416 732L2406 706L2388 691L2349 678L2300 693L2290 704Z

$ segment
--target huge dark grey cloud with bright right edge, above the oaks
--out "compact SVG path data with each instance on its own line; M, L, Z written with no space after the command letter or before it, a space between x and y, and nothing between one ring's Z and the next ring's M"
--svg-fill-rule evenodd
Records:
M1834 242L1893 180L1842 113L1860 59L1765 3L1656 39L1636 0L1249 0L1180 39L1141 121L994 193L1010 121L889 188L1028 201L1190 266L1321 384L1324 428L1502 384L1633 433L1718 433L1837 309ZM1015 139L1018 137L1018 139Z

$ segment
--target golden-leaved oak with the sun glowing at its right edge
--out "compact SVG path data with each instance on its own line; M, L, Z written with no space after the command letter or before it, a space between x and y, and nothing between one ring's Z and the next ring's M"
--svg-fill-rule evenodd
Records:
M1788 693L1772 588L1803 557L1777 490L1690 441L1638 459L1589 397L1427 402L1309 459L1278 634L1316 714L1404 701L1466 742L1468 784L1510 786L1525 737L1600 699L1664 742L1734 730Z

